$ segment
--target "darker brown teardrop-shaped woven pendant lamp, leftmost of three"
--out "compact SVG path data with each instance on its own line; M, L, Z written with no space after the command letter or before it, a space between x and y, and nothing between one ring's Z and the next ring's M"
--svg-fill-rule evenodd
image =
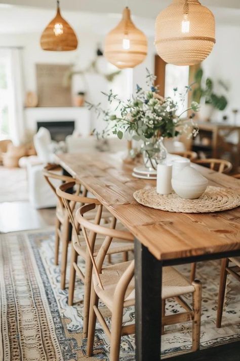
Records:
M40 44L43 50L50 51L69 51L75 50L77 47L74 30L61 16L59 0L57 1L57 15L45 28Z

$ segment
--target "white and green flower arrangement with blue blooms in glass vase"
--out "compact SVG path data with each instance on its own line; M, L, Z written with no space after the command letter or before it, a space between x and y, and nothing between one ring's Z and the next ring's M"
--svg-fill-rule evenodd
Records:
M150 161L149 167L153 169L156 168L156 164L153 164L151 159L159 153L159 140L173 138L183 132L196 136L198 129L193 118L194 112L199 110L198 103L192 102L189 108L177 114L179 104L175 96L172 99L159 95L154 80L155 76L147 70L146 83L149 90L137 85L135 93L126 102L119 99L111 90L108 94L103 92L108 97L109 104L115 104L113 111L102 109L100 104L96 106L88 104L89 109L94 109L98 116L102 114L107 122L101 133L95 132L97 137L116 135L119 139L125 137L128 140L141 140L142 149ZM189 90L191 87L186 86L183 93L178 93L182 104ZM177 92L178 89L175 88L174 94L176 95ZM182 118L184 113L186 118ZM156 159L157 162L159 161Z

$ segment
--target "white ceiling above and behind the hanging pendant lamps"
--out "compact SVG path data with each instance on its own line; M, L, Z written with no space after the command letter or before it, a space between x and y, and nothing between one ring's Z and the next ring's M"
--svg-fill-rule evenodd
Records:
M170 2L129 0L127 3L134 14L136 25L147 36L153 36L154 19ZM239 25L240 0L203 0L202 3L215 5L210 8L216 17L216 23ZM116 25L125 5L126 0L61 0L62 15L76 31L91 30L99 35L105 35ZM42 31L54 17L55 8L55 0L0 0L0 34Z

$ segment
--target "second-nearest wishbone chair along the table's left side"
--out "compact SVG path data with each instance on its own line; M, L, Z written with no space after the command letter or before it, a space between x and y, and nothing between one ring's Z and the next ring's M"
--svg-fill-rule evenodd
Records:
M69 220L72 224L72 242L71 242L71 260L70 260L70 277L69 277L69 289L68 289L68 305L73 305L73 296L74 296L74 286L75 286L75 275L84 282L84 336L87 337L88 333L88 319L89 319L89 307L90 307L90 292L91 292L91 279L92 279L92 261L90 259L89 252L87 251L87 246L85 238L79 236L79 223L75 220L74 209L76 204L82 206L83 204L92 204L93 211L89 212L88 218L94 220L95 224L99 224L100 221L106 218L111 218L111 222L105 224L106 227L115 228L116 218L113 217L108 211L102 209L101 203L95 199L90 198L85 195L76 195L68 193L68 190L73 188L75 182L64 183L57 188L57 194L62 200L62 203L67 210ZM97 206L97 211L94 208ZM103 237L97 237L96 233L91 232L89 237L91 249L93 254L97 254L98 249L101 247L103 242ZM119 240L112 242L111 247L107 251L107 255L115 253L123 253L124 259L128 258L126 254L129 251L133 251L133 244L131 242L121 243ZM85 274L77 265L77 258L81 256L85 262Z

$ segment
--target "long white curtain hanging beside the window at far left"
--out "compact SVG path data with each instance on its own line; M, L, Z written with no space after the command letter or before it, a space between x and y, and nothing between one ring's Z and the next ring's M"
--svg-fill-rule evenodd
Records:
M22 72L22 49L6 49L8 55L8 81L10 90L9 121L10 135L14 145L24 142L24 87Z

